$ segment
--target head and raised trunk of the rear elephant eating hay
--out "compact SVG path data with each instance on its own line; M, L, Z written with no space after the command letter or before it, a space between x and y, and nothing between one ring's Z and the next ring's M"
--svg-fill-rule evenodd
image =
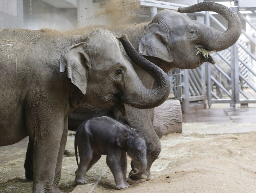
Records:
M228 21L228 29L220 32L203 23L193 21L181 13L214 11ZM160 11L144 30L139 43L139 53L157 65L170 69L196 68L203 62L214 63L211 56L198 54L198 48L207 51L220 51L232 46L241 33L239 17L228 7L203 2L193 6L179 8L177 13L171 10Z

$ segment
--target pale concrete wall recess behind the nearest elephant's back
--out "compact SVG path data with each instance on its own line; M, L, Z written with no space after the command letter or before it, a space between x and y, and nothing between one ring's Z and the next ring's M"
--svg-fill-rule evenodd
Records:
M76 8L59 9L41 0L24 1L24 25L25 29L39 30L42 28L65 31L77 28Z

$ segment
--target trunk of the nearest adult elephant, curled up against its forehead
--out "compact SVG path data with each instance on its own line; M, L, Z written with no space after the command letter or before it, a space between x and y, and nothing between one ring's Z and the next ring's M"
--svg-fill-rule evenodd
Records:
M126 84L123 92L127 93L126 95L121 95L122 101L140 109L150 109L161 105L168 98L170 93L170 81L167 74L161 68L139 54L125 34L118 38L118 40L122 43L131 60L156 80L156 87L154 89L147 89L140 80L136 83L130 82ZM134 90L136 90L134 88L137 88L137 91L134 92Z

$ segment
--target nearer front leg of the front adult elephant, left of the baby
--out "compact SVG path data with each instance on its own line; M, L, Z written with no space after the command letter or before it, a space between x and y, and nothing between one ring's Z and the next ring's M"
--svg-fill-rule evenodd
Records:
M64 122L56 119L46 119L34 129L33 192L49 192L54 180ZM49 120L55 120L54 124Z

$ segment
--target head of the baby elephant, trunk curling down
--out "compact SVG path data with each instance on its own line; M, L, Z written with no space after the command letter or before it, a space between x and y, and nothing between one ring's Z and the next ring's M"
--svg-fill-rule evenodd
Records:
M132 174L143 174L147 168L147 145L145 140L138 136L131 136L128 132L123 132L117 137L116 144L124 149L131 158L141 164L141 170L133 168Z

